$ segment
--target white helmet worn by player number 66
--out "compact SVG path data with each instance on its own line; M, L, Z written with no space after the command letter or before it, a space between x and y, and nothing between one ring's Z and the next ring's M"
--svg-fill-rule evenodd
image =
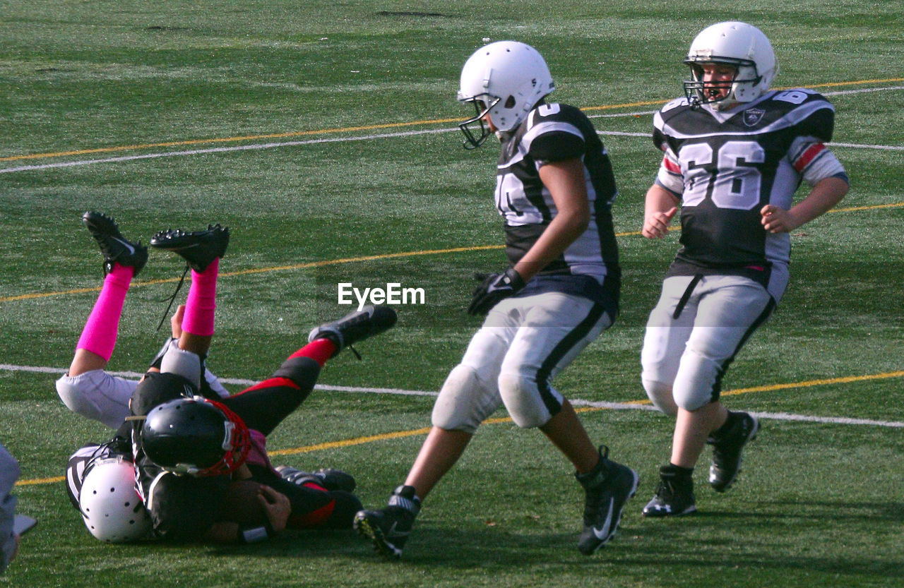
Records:
M691 66L691 79L684 82L684 94L691 104L711 103L713 108L736 102L752 102L769 89L778 71L776 54L766 35L748 23L730 21L706 27L691 43L684 63ZM703 63L720 63L735 68L734 79L724 98L703 88ZM708 83L708 89L715 85Z

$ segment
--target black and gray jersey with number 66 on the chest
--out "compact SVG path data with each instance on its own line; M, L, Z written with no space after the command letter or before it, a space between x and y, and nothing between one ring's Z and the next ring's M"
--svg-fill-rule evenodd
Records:
M656 183L682 201L682 247L671 275L763 276L778 299L787 284L791 241L763 229L767 204L790 209L801 182L846 180L831 141L834 108L808 89L774 90L721 112L686 98L654 117L664 151Z

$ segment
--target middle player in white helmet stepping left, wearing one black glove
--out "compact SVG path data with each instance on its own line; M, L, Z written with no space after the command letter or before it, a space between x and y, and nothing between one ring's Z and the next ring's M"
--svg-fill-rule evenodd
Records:
M494 196L510 266L481 276L467 312L486 319L439 392L427 440L389 505L358 513L355 528L381 555L399 557L421 501L504 405L577 470L586 495L578 546L589 555L615 534L637 474L590 441L551 380L616 319L612 167L589 119L546 101L555 86L531 46L490 43L466 61L460 81L458 100L476 109L459 125L465 147L490 135L502 143Z

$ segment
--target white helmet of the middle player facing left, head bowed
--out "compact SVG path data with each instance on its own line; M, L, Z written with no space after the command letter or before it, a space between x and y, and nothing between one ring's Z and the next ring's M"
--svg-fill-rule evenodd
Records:
M458 101L476 108L476 117L458 125L465 134L465 147L479 147L492 134L485 117L497 132L511 131L554 89L546 61L530 45L498 41L481 47L461 70ZM480 126L479 136L469 128L475 123Z

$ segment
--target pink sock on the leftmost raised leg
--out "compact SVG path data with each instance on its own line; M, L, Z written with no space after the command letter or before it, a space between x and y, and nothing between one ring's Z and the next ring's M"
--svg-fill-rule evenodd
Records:
M126 293L133 275L134 267L113 264L113 269L104 278L104 285L100 288L98 300L94 303L88 322L85 322L85 328L81 330L76 349L97 353L109 361L113 355L113 348L116 347L119 317L122 316L122 305L126 302Z

